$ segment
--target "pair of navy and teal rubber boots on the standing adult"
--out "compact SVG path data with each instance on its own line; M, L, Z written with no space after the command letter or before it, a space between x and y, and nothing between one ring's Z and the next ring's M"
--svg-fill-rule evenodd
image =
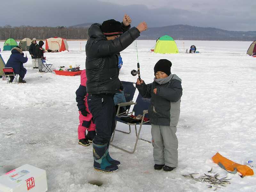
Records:
M96 170L105 172L117 171L117 165L111 164L106 158L107 143L104 145L97 145L92 142L94 163L93 167Z

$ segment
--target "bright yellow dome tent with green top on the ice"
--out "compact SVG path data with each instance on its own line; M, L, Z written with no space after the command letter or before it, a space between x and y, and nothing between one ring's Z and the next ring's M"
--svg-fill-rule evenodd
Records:
M155 53L179 53L177 45L172 37L164 35L156 41Z

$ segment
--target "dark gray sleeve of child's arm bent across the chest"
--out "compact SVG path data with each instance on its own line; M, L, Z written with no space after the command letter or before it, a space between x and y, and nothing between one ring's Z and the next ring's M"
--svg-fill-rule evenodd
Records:
M178 101L182 95L181 82L176 80L173 83L169 83L167 87L157 88L156 95L171 102Z

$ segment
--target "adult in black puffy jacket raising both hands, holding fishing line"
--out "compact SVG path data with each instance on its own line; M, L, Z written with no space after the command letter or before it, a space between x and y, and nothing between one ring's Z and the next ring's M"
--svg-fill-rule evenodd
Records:
M96 124L96 136L92 142L94 168L102 171L116 171L119 161L109 156L108 148L115 129L114 94L122 84L118 78L117 54L128 47L147 29L146 22L137 28L131 27L131 18L124 15L123 22L106 20L100 25L94 23L88 30L86 43L86 89L88 107Z

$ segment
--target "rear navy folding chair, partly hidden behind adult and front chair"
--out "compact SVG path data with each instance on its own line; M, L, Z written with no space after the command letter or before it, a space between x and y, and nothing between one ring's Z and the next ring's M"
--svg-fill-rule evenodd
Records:
M135 83L132 83L132 82L129 82L129 81L121 81L121 83L123 84L123 87L124 87L124 90L123 90L124 91L124 97L125 97L125 100L127 102L117 104L118 109L117 109L117 112L116 112L116 116L118 116L118 117L120 117L121 115L131 114L132 112L129 113L130 107L131 107L132 104L135 104L132 101L134 93L136 91ZM123 112L123 113L119 113L121 107L125 107L126 111ZM125 131L121 131L121 130L117 130L117 129L116 129L116 131L123 132L123 133L126 133L126 134L130 134L131 133L131 126L129 125L129 132L125 132Z

